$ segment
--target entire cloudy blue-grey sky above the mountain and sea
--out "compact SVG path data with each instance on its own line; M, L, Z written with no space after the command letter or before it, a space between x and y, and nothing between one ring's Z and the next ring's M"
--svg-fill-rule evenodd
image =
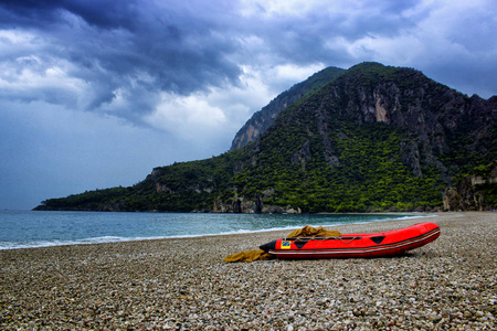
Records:
M228 151L327 66L497 94L495 0L2 0L0 210Z

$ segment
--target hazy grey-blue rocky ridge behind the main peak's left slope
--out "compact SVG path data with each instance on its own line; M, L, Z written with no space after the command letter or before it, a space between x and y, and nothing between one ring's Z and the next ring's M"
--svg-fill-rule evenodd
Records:
M239 130L231 145L231 150L239 149L254 141L271 127L275 118L283 109L302 99L313 90L317 90L334 81L345 71L337 67L327 67L306 81L294 85L288 90L279 94L267 106L256 111L251 119Z

